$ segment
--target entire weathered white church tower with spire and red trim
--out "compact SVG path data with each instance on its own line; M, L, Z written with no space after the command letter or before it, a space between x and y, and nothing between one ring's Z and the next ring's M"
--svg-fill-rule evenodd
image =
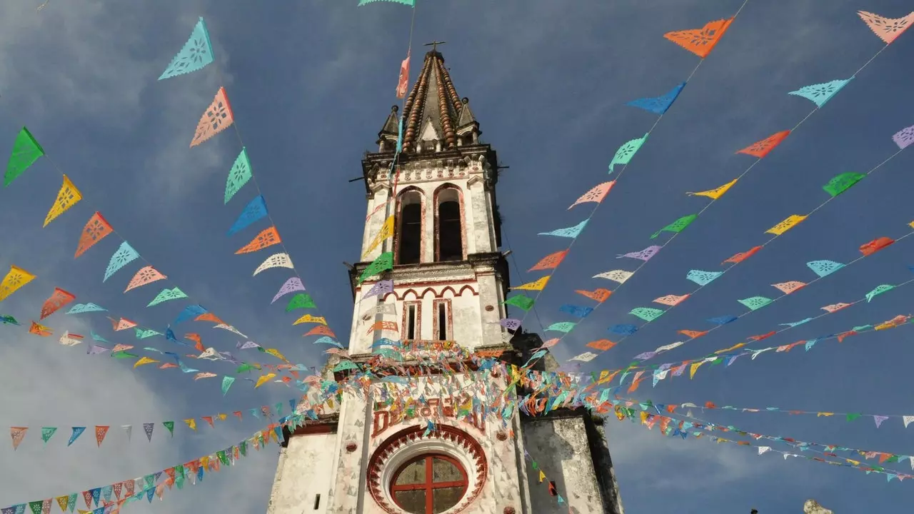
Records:
M469 359L520 366L542 341L500 324L497 158L437 44L362 160L347 353L373 369L395 362L363 380L366 394L285 431L268 514L622 514L600 421L585 409L503 415L517 386ZM364 276L388 252L391 269Z

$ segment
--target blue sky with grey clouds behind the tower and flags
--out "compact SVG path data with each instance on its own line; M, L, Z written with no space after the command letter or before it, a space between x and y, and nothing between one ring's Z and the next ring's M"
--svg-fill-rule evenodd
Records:
M5 228L0 263L38 274L3 303L4 314L37 317L41 303L61 287L80 302L108 306L145 326L165 327L174 319L183 305L144 306L160 284L122 294L140 267L136 263L101 283L120 244L117 238L72 259L82 226L100 210L144 259L168 275L170 286L180 286L195 303L293 361L318 363L319 350L305 346L303 330L292 327L294 318L283 312L282 302L269 305L288 275L271 270L252 278L267 254L233 254L256 230L225 236L255 194L248 186L228 206L222 204L225 177L239 152L237 139L225 133L193 149L187 145L201 112L225 86L292 259L321 314L345 337L352 302L342 262L357 259L365 218L364 189L347 180L361 174L359 159L376 148L377 131L397 102L393 91L412 14L401 5L355 4L51 0L40 13L28 2L0 7L4 151L27 125L85 197L41 228L60 185L48 159L0 192ZM607 178L606 165L619 145L654 123L652 114L624 103L668 91L697 64L696 56L663 34L731 16L741 4L420 0L413 55L420 58L420 43L448 41L441 51L458 93L471 99L484 141L494 145L503 166L511 166L499 182L498 200L505 249L514 251L521 270L562 248L564 241L537 237L537 232L568 227L586 216L587 207L566 208ZM584 305L574 289L611 285L591 275L637 264L617 261L616 255L642 250L652 244L648 237L655 230L705 205L685 191L717 187L738 176L752 157L734 155L737 150L791 128L813 109L788 91L846 79L871 58L882 42L856 16L858 9L900 17L910 7L903 0L749 0L558 269L537 304L542 323L565 320L560 305ZM211 66L157 82L197 16L207 19L219 71ZM831 177L866 172L895 153L891 135L914 124L914 109L907 103L912 57L914 34L905 34L567 337L556 348L558 358L607 337L611 325L635 323L626 314L633 307L694 289L685 281L688 270L717 270L732 254L767 241L764 230L823 202L821 187ZM773 297L777 292L769 284L809 282L814 275L805 262L849 262L866 241L904 235L914 220L906 207L914 185L907 175L912 158L909 151L898 155L585 369L623 366L638 353L680 340L675 330L707 329L703 320L708 317L739 316L746 309L736 300ZM656 361L695 358L779 323L814 316L822 305L856 300L878 284L908 280L911 244L900 241ZM514 268L512 273L515 284L538 276ZM792 329L772 338L771 345L909 314L912 299L914 288L899 288ZM75 320L58 314L48 326L87 335L95 330L112 342L135 341L112 335L104 316ZM179 336L199 332L207 347L231 349L238 340L202 324L179 328ZM538 330L533 316L526 328ZM808 353L796 348L754 361L743 358L728 369L701 369L694 380L667 380L654 390L645 382L636 394L654 402L914 414L903 392L904 361L914 356L903 343L907 330L852 337ZM87 356L55 341L9 327L0 333L0 386L6 391L0 399L2 424L61 427L44 449L36 430L16 453L0 444L2 505L102 486L212 453L260 428L248 408L294 396L281 384L252 391L248 382L239 381L223 398L213 379L195 382L175 369L133 370L127 361ZM199 368L214 372L229 367L203 364ZM245 422L203 427L197 434L180 426L186 417L236 410L245 410ZM837 417L764 412L696 415L761 434L912 453L898 419L877 430L866 418L846 423ZM144 442L141 423L165 420L178 421L175 438L164 437L160 424L153 442ZM128 423L134 425L130 443L118 428ZM113 425L101 449L88 434L65 447L69 426L94 424ZM623 502L631 512L674 505L679 511L711 513L754 507L764 514L799 510L806 498L862 511L888 509L909 498L909 483L887 484L884 477L853 469L758 456L733 444L664 439L630 423L611 421L608 427ZM133 509L266 509L275 464L273 445L202 485L167 495L161 506ZM908 464L889 466L904 470Z

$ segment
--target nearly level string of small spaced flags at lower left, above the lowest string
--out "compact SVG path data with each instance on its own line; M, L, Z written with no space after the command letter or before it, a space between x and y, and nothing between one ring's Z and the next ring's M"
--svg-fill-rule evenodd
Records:
M294 413L295 407L298 404L298 400L293 398L292 400L289 400L288 403L289 403L289 408L291 409L291 412ZM254 407L254 408L247 409L247 411L250 412L250 416L253 416L254 418L257 418L257 419L260 419L261 416L264 419L272 419L274 414L277 416L282 415L282 408L283 408L284 404L285 404L285 402L277 402L272 407L270 405L262 405L260 407ZM234 412L231 412L231 415L238 418L239 421L242 421L244 412L243 411L234 411ZM228 414L226 414L224 412L219 412L218 414L213 414L213 415L209 415L209 416L197 416L196 418L186 418L181 421L184 422L184 424L186 425L188 430L197 432L197 426L203 426L204 424L208 424L210 426L210 428L215 429L216 422L226 421L227 419L228 419ZM153 433L155 431L156 424L161 424L162 426L164 426L165 429L168 431L168 434L171 437L175 436L175 421L174 420L164 421L164 422L160 422L160 423L142 423L143 434L146 435L147 441L152 442ZM94 428L95 442L101 448L101 443L105 440L105 436L108 434L109 430L111 430L112 426L116 426L116 425L96 424L93 427L70 426L69 427L70 434L69 434L69 439L67 440L67 446L69 447L70 445L75 443L77 441L77 439L79 439L80 436L86 432L87 429L89 429L90 433L91 433L91 432L93 432L92 428ZM120 425L121 430L122 430L123 434L126 436L128 442L132 440L133 426L135 426L135 425L133 425L133 424ZM32 433L40 434L41 442L47 445L48 442L54 437L54 435L58 433L58 429L64 429L64 427L11 426L9 429L9 434L10 434L10 438L13 441L13 450L16 450L19 447L19 444L22 444L22 442L26 439L26 436L27 436L29 430L31 430Z

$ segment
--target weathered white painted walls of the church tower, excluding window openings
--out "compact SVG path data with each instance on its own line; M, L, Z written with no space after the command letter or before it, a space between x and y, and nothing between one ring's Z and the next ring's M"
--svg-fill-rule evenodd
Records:
M426 56L417 82L430 83L423 86L429 88L423 94L434 104L423 103L420 112L438 109L440 102L456 96L453 91L451 96L440 94L448 86L452 90L452 85L449 77L441 77L443 60L430 64L435 56L440 58L434 51ZM417 85L412 95L419 89ZM363 255L353 273L357 276L367 262L394 250L396 237L367 252L384 221L397 211L396 198L389 198L394 190L398 198L409 193L409 201L419 201L422 242L419 263L395 262L383 277L393 280L392 293L363 300L381 277L353 284L356 305L348 344L353 359L367 358L379 337L446 340L466 349L511 348L510 334L499 325L506 315L507 276L496 242L497 164L492 149L478 144L478 123L467 102L462 101L465 111L457 111L464 124L457 127L461 139L456 148L442 151L441 134L447 131L431 122L421 123L409 158L399 163L399 177L390 177L392 154L385 145L396 141L396 134L391 139L389 131L396 126L395 109L385 125L387 132L382 131L379 153L363 161L367 220ZM436 116L440 118L441 111ZM449 198L461 198L460 261L436 262L436 196L443 189L449 189ZM441 337L438 323L441 304L446 305L446 337ZM414 309L416 316L412 337L406 333L408 309ZM391 325L377 329L378 322L396 323L396 330ZM403 357L406 362L415 359L408 351ZM614 478L607 479L612 477L608 450L600 454L599 446L604 444L605 450L605 443L594 442L592 423L586 426L589 420L575 413L534 420L515 413L506 422L494 414L485 417L482 406L493 405L508 383L492 371L445 376L412 373L406 380L405 384L371 384L369 397L375 402L347 394L337 409L338 418L324 418L293 433L282 449L268 514L409 514L393 500L391 482L401 466L430 454L459 463L467 482L460 501L441 514L622 514ZM381 402L384 395L397 394L397 388L409 391L416 401L408 412L390 412ZM434 430L427 429L429 422ZM601 433L598 436L601 439ZM537 468L532 467L533 460ZM609 468L605 475L597 472L600 466ZM539 469L556 482L564 504L549 494L547 484L539 483Z

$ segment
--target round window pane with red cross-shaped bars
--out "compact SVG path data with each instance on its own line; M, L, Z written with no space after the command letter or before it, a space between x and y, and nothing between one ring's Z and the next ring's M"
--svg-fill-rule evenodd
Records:
M409 514L438 514L460 503L467 488L466 470L447 455L420 455L397 470L390 496Z

